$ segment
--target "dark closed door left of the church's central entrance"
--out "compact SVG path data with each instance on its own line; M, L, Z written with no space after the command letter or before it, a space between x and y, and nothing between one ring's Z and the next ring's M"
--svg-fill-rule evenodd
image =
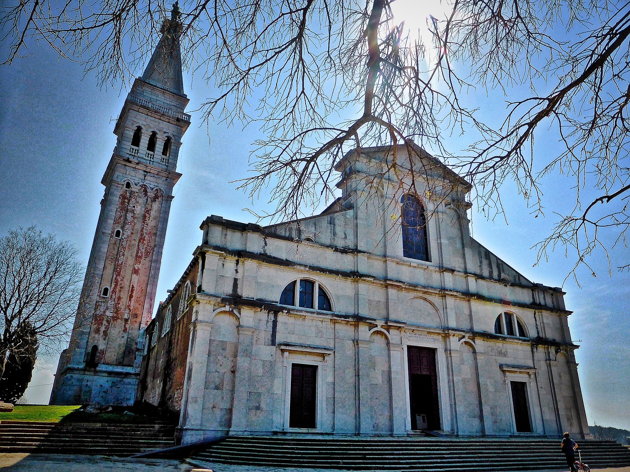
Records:
M316 427L317 366L291 364L290 428Z

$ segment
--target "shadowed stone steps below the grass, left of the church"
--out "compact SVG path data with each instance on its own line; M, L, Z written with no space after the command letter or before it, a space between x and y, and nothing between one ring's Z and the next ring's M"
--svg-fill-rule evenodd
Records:
M130 456L175 446L168 424L89 424L2 421L0 452Z

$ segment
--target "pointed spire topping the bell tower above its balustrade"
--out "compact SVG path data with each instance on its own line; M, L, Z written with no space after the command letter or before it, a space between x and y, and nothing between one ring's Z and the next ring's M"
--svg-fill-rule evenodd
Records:
M164 18L161 33L162 37L140 79L156 87L186 96L181 73L181 13L178 2L173 5L171 18Z

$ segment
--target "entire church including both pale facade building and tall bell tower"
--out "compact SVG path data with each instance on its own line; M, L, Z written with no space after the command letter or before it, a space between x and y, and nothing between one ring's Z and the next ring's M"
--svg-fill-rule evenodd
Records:
M178 24L174 9L118 118L51 403L163 408L183 444L422 430L588 437L563 291L474 240L470 184L413 143L347 152L340 197L319 215L206 218L152 318L190 123Z

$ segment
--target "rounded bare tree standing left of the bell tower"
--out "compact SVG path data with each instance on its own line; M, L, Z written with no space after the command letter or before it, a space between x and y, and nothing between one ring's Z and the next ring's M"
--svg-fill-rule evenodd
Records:
M83 269L76 250L30 227L0 239L0 377L8 352L20 357L23 327L44 354L67 340L81 295Z

